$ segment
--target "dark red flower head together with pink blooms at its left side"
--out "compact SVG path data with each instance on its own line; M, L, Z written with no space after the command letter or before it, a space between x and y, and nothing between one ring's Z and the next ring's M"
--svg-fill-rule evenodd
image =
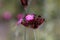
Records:
M18 14L17 18L17 24L22 24L25 27L30 27L33 29L37 29L39 25L41 25L45 21L45 19L42 18L40 15L37 16L35 14Z

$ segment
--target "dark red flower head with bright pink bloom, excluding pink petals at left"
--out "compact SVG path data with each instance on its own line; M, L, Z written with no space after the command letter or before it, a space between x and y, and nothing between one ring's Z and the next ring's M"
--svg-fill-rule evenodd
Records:
M33 14L27 14L21 24L24 25L25 27L30 27L30 28L36 29L44 21L45 21L45 19L42 18L40 15L36 16Z

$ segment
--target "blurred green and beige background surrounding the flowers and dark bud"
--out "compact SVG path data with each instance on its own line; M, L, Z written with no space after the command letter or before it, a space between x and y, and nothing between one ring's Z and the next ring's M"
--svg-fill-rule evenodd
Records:
M2 18L6 11L12 15L9 21ZM25 31L27 40L34 40L31 29L15 25L19 13L26 14L20 0L0 0L0 40L24 40ZM46 20L35 30L37 40L60 40L60 0L31 0L27 13L41 15Z

